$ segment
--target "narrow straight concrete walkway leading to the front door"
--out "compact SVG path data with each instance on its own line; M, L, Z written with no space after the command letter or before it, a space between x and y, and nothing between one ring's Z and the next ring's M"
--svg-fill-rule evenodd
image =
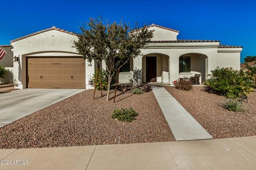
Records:
M212 139L212 136L165 88L155 87L153 92L177 141Z

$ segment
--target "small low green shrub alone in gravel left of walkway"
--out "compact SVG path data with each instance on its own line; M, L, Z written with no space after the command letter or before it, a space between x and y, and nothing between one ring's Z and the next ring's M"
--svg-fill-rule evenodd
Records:
M123 122L132 122L132 120L136 120L136 116L138 116L138 113L132 108L115 108L111 115L112 118L116 118L117 120Z

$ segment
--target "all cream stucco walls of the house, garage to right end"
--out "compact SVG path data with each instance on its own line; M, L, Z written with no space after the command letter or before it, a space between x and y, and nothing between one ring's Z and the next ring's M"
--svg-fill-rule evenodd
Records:
M177 40L177 32L150 27L154 29L152 40ZM65 32L51 30L38 35L21 39L12 43L14 56L20 60L13 65L14 81L17 88L26 88L26 57L27 56L78 56L72 42L77 37ZM184 76L179 74L179 57L191 54L191 73L202 73L202 81L207 73L219 67L233 67L239 69L240 52L242 48L220 49L219 42L208 43L150 43L147 49L141 49L141 56L131 62L130 73L120 73L119 82L130 82L134 70L142 72L141 81L146 81L146 58L143 56L157 57L157 82L173 83L174 80ZM207 57L206 57L207 56ZM89 80L95 72L95 63L85 61L86 89L93 88ZM103 62L102 67L106 67Z

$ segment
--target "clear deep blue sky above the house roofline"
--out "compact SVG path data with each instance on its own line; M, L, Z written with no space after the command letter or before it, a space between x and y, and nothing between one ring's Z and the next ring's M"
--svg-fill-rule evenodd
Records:
M121 18L134 25L158 24L180 31L179 39L220 40L256 56L255 1L2 1L0 44L53 25L78 31L90 17Z

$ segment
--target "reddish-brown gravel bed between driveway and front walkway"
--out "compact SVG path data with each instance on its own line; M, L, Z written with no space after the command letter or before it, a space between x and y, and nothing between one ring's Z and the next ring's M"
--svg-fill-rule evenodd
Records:
M174 141L152 91L118 92L114 104L113 99L100 97L100 91L94 100L92 95L93 90L85 90L0 128L0 148ZM139 114L137 120L124 123L111 118L114 108L130 107Z

